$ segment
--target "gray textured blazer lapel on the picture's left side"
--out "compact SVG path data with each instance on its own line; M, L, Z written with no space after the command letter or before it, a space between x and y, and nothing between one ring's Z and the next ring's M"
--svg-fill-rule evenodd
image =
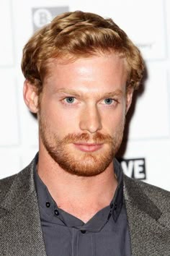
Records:
M33 162L17 174L1 202L1 255L46 256L42 237Z

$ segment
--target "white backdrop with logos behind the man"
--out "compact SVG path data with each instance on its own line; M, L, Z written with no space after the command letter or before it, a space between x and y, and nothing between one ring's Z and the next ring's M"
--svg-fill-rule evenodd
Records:
M142 51L147 79L128 127L126 174L170 190L170 1L1 0L0 178L37 152L37 121L24 106L22 48L33 31L61 12L82 10L112 19Z

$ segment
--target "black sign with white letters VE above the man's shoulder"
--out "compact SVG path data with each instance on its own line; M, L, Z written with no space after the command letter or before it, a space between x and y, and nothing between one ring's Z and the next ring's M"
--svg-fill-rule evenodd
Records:
M134 179L146 179L145 158L118 159L124 174Z

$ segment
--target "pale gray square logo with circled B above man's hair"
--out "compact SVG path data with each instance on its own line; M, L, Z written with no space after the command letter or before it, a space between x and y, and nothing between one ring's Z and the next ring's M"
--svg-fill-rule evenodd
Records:
M68 7L39 7L32 8L32 23L34 31L50 23L58 14L68 12Z

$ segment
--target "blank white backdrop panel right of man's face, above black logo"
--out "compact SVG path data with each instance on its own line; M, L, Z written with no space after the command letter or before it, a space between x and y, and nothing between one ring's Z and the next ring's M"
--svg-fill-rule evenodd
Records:
M158 139L170 135L168 71L159 62L147 63L147 69L145 88L130 121L130 139Z

